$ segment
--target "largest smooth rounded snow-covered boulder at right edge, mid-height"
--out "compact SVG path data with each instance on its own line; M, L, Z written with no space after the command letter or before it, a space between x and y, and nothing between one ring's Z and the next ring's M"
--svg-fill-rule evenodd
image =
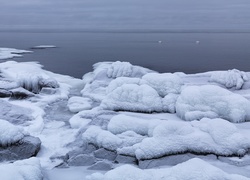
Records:
M218 86L189 86L177 99L176 112L187 121L220 117L231 122L244 122L250 120L250 102Z

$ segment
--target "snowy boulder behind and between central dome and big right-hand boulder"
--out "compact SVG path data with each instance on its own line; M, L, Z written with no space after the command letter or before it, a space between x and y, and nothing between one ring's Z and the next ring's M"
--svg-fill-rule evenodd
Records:
M169 93L179 94L183 85L182 79L171 73L148 73L142 77L162 97Z

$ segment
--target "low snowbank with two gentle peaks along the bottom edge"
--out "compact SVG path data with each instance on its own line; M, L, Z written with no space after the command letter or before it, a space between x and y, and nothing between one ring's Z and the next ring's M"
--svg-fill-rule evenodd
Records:
M105 174L94 173L88 180L248 180L249 178L228 174L211 164L194 158L171 168L142 170L132 165L123 165Z

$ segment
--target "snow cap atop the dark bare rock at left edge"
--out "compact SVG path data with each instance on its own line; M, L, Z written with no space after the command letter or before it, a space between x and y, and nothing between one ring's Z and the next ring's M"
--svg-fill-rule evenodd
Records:
M0 119L0 146L16 143L24 137L24 130L8 121Z

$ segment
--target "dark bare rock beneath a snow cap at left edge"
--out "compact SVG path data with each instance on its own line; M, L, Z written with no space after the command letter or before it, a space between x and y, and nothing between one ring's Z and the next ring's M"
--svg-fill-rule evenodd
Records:
M37 137L25 136L20 141L9 146L0 146L0 162L27 159L36 156L41 147Z

